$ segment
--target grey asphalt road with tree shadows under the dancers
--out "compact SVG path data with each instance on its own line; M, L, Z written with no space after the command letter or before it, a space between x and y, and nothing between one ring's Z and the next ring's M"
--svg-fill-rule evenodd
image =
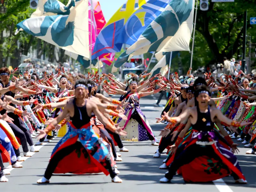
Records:
M151 96L142 98L140 103L141 110L148 118L155 135L158 135L159 130L164 128L164 124L156 124L155 118L161 114L166 100L163 99L160 102L161 107L153 107L156 103L155 99ZM160 137L157 138L160 140ZM187 184L178 175L173 178L172 183L160 184L159 179L164 177L167 170L161 170L158 167L167 155L164 153L160 158L153 158L157 146L152 146L150 141L124 141L124 146L130 151L119 152L122 154L123 161L117 162L119 176L123 179L123 183L112 183L110 176L102 173L54 174L50 184L38 185L36 180L43 177L52 149L59 140L60 138L55 138L50 143L40 146L40 152L34 153L32 157L22 162L23 168L10 169L11 175L6 176L9 182L0 183L0 191L256 191L256 155L245 155L248 149L243 148L242 144L239 146L240 152L237 157L248 184L235 184L233 177L204 184ZM20 151L22 152L22 148ZM5 167L8 165L5 163Z

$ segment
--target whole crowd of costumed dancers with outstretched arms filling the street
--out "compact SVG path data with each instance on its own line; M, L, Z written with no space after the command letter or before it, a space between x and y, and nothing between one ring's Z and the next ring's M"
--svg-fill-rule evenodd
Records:
M4 162L22 168L29 152L38 152L54 137L62 137L52 151L44 177L37 183L49 183L53 173L99 173L120 183L116 161L119 151L128 152L122 140L147 141L158 146L154 157L168 149L168 157L159 167L168 169L160 182L170 182L178 173L187 182L209 182L231 175L236 183L247 183L234 153L242 141L256 152L256 81L237 76L211 74L195 78L190 72L179 78L161 74L127 74L124 82L112 74L92 71L86 76L72 75L64 69L56 74L29 74L14 77L8 68L0 69L0 181L9 175ZM151 76L151 77L150 77ZM150 78L149 78L150 77ZM119 100L105 97L98 88ZM160 91L170 97L157 123L166 122L162 138L156 139L140 98ZM216 98L211 97L218 92ZM36 135L37 134L37 135ZM34 144L32 138L39 141ZM232 139L231 139L232 138ZM30 146L30 150L28 148ZM68 163L71 162L72 164ZM67 166L69 164L69 166Z

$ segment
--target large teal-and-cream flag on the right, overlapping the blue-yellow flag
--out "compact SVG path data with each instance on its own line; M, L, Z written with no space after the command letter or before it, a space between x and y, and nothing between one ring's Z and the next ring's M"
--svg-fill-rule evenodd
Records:
M120 67L131 55L151 51L189 51L194 6L194 0L171 0L164 11L143 31L138 41L120 55L113 67Z

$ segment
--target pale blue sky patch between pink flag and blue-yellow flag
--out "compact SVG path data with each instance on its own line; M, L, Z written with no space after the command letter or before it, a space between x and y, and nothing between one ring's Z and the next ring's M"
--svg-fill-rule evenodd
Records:
M127 0L99 0L100 7L105 17L108 20L112 15L126 2Z

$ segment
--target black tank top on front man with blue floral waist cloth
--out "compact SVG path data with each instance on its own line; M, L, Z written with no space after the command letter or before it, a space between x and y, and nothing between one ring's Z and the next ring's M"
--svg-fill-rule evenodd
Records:
M79 129L83 125L87 124L90 122L91 117L88 116L87 111L86 111L86 103L87 100L85 101L85 104L83 107L77 107L76 106L76 98L73 100L74 104L74 116L70 117L70 120L72 120L72 124Z

